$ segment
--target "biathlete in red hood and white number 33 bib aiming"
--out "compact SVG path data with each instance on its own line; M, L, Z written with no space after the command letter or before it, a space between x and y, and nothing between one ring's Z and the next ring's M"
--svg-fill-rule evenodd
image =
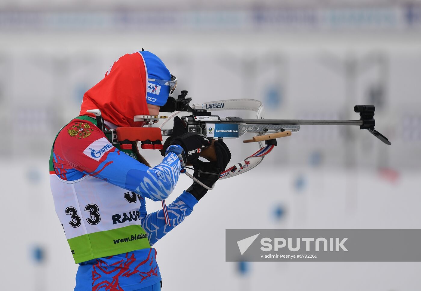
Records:
M208 190L194 182L163 210L147 213L146 198L168 198L183 169L180 157L195 168L208 187L224 171L231 153L215 141L216 162L199 160L204 136L188 133L179 117L161 150L162 162L151 167L139 154L110 142L88 109L100 109L107 130L139 127L134 115L158 115L176 80L155 54L126 54L83 96L80 115L57 134L50 158L50 182L56 213L75 263L75 291L160 290L161 275L152 246L192 213ZM164 144L164 145L165 145ZM169 223L165 222L165 213Z

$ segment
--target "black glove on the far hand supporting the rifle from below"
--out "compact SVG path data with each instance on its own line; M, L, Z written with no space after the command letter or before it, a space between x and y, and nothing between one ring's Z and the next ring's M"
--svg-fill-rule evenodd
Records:
M203 162L199 159L193 162L193 168L195 169L195 173L193 174L193 176L208 187L212 187L213 184L215 184L216 181L218 181L219 173L222 171L225 171L225 168L228 165L229 160L231 160L231 152L229 152L229 149L224 143L224 141L215 141L214 146L215 146L215 153L216 153L216 162ZM199 170L208 172L208 173L214 173L217 175L200 173L200 177L199 177L198 175ZM208 192L208 189L194 182L186 190L186 192L189 192L190 194L195 196L197 201L199 201L200 198L205 196L206 192Z

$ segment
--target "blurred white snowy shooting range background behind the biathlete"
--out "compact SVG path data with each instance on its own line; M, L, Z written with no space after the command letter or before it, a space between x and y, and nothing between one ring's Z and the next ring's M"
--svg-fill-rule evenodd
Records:
M418 262L225 262L230 228L421 228L420 1L2 0L3 289L73 290L77 265L49 189L51 144L83 93L141 48L179 78L173 95L258 99L277 119L359 119L354 105L373 104L392 142L342 126L303 125L278 139L261 165L218 182L155 244L163 290L421 288ZM256 151L227 144L232 163ZM160 162L159 152L144 155ZM168 203L190 184L181 176Z

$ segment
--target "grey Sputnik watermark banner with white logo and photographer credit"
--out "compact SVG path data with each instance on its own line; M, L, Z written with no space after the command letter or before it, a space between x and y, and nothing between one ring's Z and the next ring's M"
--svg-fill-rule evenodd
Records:
M421 230L226 230L226 261L421 262L420 240Z

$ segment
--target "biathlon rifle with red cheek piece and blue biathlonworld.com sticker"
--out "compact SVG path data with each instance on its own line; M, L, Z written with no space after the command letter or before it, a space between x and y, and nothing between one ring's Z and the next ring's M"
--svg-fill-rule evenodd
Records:
M303 120L303 119L264 119L263 104L255 99L228 99L196 103L190 105L191 97L187 97L187 91L181 91L177 99L169 96L165 105L161 106L160 112L173 112L170 116L136 115L134 121L146 121L147 128L117 128L104 133L112 134L112 143L120 144L123 148L131 148L130 141L141 141L142 149L162 150L162 136L171 136L172 129L163 129L163 126L174 116L181 112L188 112L191 115L181 117L188 132L200 134L209 139L235 139L247 132L255 133L252 139L244 140L244 143L258 142L259 150L249 155L239 163L227 168L219 174L219 179L225 179L256 167L277 145L277 138L291 136L293 132L300 130L300 125L357 125L360 129L366 129L385 144L390 141L374 128L373 105L356 105L354 112L360 113L359 120ZM220 117L212 115L212 110L251 110L256 112L255 119L243 119L237 116ZM101 112L98 109L88 110L94 113L97 123L104 130ZM159 128L153 127L160 119L165 119ZM200 156L212 161L215 160L215 152L212 149L213 142L209 147L201 150ZM264 143L263 143L264 142ZM186 172L186 174L188 174ZM188 174L192 177L190 174ZM193 177L192 177L193 178ZM195 179L196 180L196 179ZM205 187L205 186L204 186ZM208 188L208 187L207 187ZM210 188L208 188L210 189Z

